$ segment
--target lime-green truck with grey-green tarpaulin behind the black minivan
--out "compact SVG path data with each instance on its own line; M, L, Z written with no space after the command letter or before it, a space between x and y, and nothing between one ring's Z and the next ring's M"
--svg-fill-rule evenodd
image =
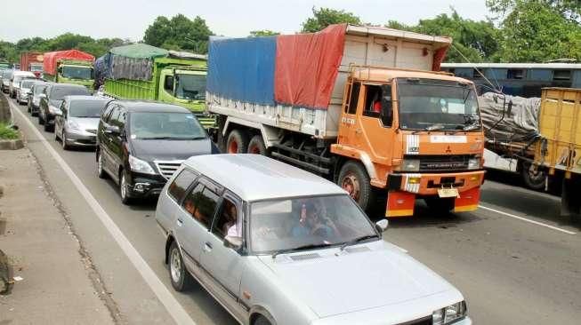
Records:
M147 44L112 48L95 61L97 83L116 99L150 99L189 108L206 128L207 58L189 52L166 51Z

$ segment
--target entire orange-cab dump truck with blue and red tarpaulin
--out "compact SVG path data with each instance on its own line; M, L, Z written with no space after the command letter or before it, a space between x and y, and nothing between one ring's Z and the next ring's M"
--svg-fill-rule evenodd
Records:
M416 199L476 210L484 136L474 84L439 72L450 44L351 25L213 37L206 105L218 142L333 179L386 217L413 215Z

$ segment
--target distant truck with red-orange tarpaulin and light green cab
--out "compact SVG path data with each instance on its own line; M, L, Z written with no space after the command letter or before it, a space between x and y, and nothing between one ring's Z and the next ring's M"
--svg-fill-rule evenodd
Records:
M93 91L95 57L78 50L46 52L43 77L52 83L81 84Z

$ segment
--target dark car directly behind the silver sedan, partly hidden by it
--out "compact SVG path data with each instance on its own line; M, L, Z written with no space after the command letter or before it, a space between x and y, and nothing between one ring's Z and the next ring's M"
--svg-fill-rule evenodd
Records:
M44 124L44 131L54 130L54 116L61 107L62 100L68 95L90 95L89 90L80 84L51 83L40 95L38 123Z

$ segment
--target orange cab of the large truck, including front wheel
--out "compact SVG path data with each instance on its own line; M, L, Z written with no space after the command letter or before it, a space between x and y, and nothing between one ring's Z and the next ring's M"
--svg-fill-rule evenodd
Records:
M343 164L337 184L364 208L387 194L386 217L413 215L416 199L436 210L476 210L483 140L471 81L440 72L351 67L331 152L360 163Z

